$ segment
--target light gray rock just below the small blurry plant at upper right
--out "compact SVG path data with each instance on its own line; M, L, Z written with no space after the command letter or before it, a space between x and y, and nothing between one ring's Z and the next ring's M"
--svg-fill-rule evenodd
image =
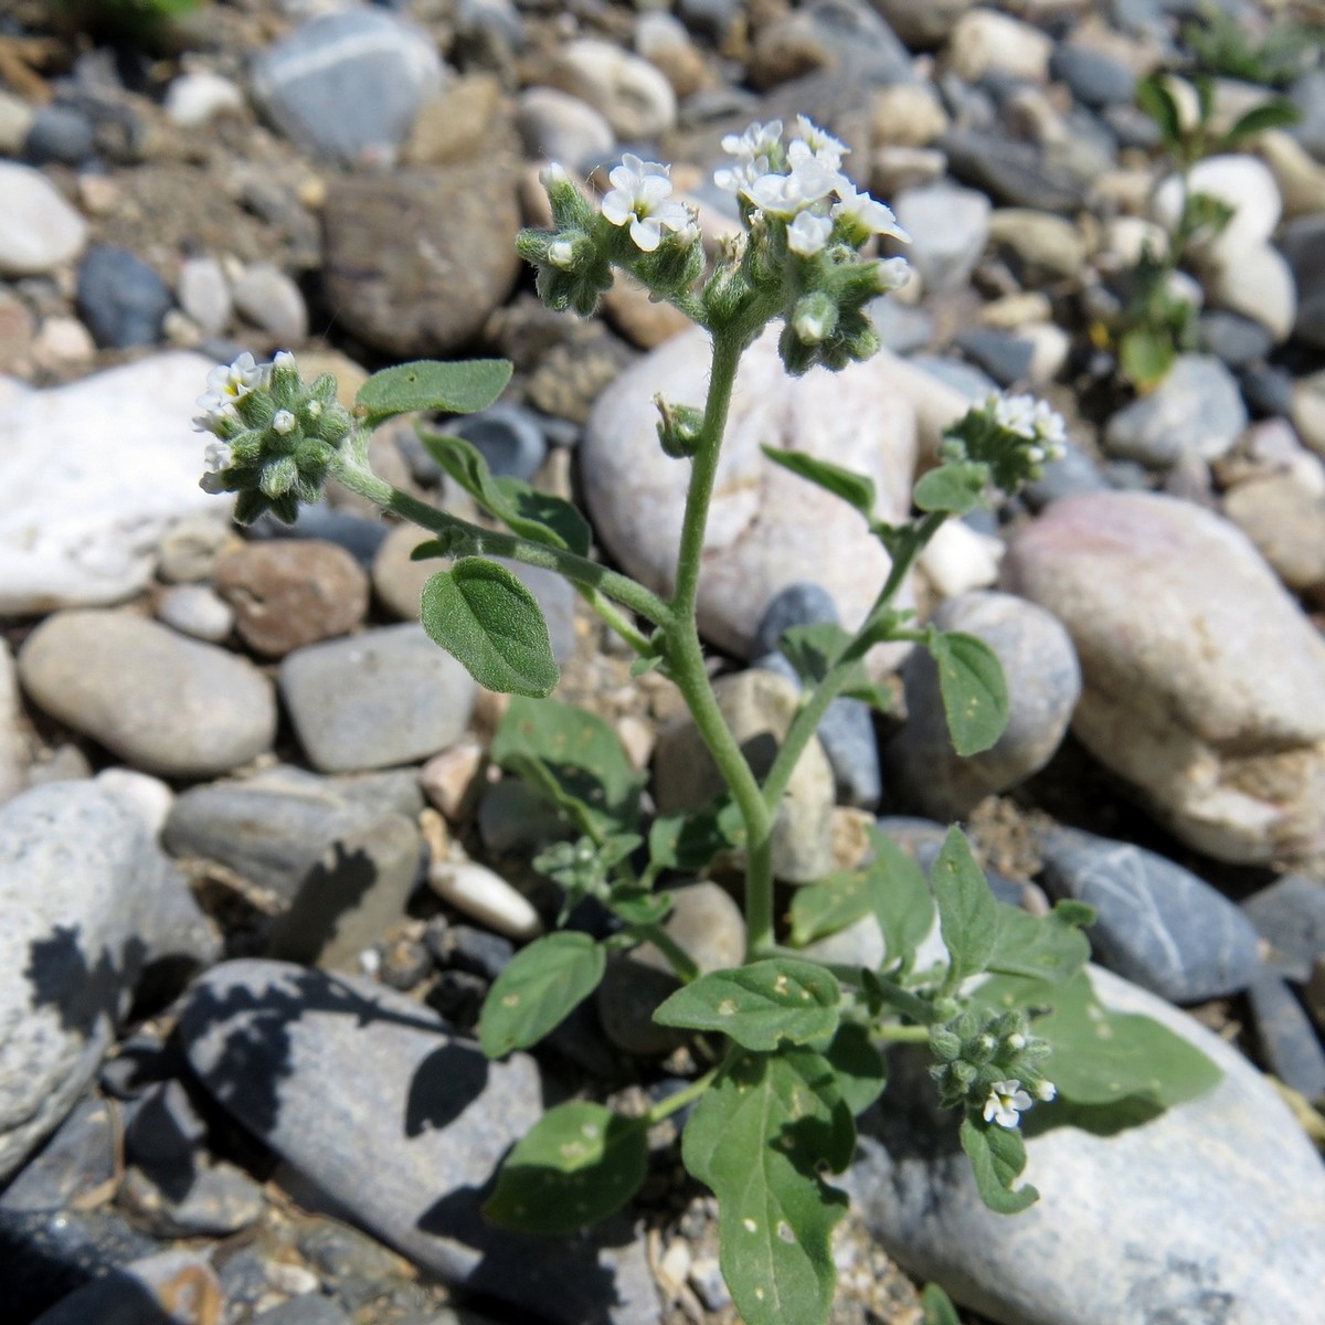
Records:
M1157 468L1187 453L1218 460L1247 423L1232 374L1211 355L1183 354L1154 391L1109 420L1104 444L1113 456Z

